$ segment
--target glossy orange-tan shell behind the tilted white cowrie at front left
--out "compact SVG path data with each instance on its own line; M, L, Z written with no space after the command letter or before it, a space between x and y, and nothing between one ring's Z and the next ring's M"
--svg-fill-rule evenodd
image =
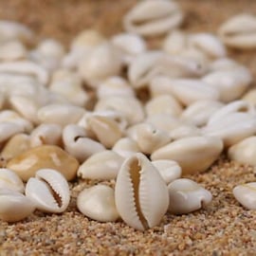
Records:
M7 168L18 174L24 181L43 168L57 170L64 174L67 180L71 180L76 176L78 167L79 162L76 158L53 145L42 145L27 150L9 160L7 164Z

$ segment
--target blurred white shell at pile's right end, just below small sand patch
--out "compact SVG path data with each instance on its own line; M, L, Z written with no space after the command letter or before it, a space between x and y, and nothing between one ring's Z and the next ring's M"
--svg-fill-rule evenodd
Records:
M220 101L229 102L243 95L252 81L252 77L246 67L238 66L232 69L213 71L203 77L202 81L219 91Z

